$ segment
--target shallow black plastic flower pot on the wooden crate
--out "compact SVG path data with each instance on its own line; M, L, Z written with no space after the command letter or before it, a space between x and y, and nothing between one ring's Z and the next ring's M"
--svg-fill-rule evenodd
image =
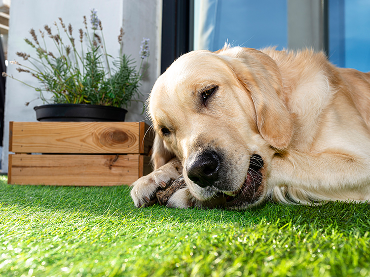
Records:
M126 109L89 104L46 104L34 107L38 121L125 121Z

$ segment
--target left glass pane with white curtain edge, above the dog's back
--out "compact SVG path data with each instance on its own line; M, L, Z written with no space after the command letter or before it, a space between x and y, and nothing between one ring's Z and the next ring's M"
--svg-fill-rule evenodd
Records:
M194 49L287 47L286 0L194 0Z

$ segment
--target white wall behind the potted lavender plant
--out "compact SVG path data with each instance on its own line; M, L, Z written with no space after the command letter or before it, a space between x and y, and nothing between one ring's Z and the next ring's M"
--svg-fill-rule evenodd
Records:
M34 28L43 30L48 24L53 26L58 17L62 17L65 24L72 24L74 37L78 40L78 29L83 29L82 17L86 15L89 21L90 9L95 8L98 17L103 24L103 32L107 44L108 53L118 55L119 44L117 36L123 24L124 29L124 52L131 54L138 62L140 59L140 42L143 37L150 38L150 56L148 60L148 78L141 87L148 96L152 85L160 73L160 35L162 19L161 0L15 0L11 2L10 22L8 36L8 60L20 61L15 52L34 53L32 48L24 42L24 38L31 38L29 31ZM89 23L89 22L88 22ZM54 26L53 26L54 27ZM54 29L55 30L55 29ZM48 37L45 36L46 39ZM37 80L29 74L16 71L17 66L9 65L7 73L24 82L37 86ZM5 115L4 115L4 141L2 152L2 172L7 172L8 147L9 147L9 121L36 121L34 106L42 104L37 100L29 106L29 102L38 97L38 93L32 88L20 82L7 78L5 91ZM128 108L127 121L140 121L145 119L142 112L142 104L134 103Z

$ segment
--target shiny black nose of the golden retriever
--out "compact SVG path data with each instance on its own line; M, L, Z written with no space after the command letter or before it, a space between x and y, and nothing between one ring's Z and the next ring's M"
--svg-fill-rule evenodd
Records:
M220 158L213 151L190 157L186 166L187 176L200 187L212 186L219 178Z

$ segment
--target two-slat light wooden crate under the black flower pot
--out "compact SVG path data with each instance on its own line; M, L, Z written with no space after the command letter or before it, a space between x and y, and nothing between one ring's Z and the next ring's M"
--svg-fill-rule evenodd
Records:
M9 184L110 186L151 172L144 122L10 122Z

